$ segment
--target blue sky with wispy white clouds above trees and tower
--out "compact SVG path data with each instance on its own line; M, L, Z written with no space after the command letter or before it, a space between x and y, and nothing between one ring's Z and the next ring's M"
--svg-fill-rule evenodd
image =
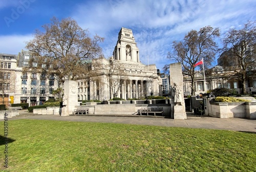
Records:
M101 44L105 57L112 55L121 27L132 29L141 62L147 64L148 57L161 70L170 63L166 56L174 40L208 25L221 33L239 29L255 20L255 11L255 0L1 0L0 52L18 54L50 18L72 17L92 36L105 38Z

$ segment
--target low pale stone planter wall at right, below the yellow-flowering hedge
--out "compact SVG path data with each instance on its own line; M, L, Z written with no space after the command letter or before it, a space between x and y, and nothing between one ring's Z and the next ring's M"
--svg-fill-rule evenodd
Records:
M208 101L205 115L217 118L256 119L256 102L214 102Z

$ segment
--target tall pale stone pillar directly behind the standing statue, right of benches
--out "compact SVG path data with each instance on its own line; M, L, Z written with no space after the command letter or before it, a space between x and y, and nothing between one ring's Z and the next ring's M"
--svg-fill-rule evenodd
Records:
M185 101L184 101L184 94L183 94L183 75L182 75L182 68L181 63L172 63L170 64L170 85L171 91L173 93L174 83L176 83L181 90L181 103L174 102L174 97L172 96L171 99L171 117L174 119L186 119L186 111L185 111Z

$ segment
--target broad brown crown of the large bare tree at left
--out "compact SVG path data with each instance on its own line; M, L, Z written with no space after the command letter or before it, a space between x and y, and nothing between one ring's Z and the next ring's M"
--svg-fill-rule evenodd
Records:
M42 26L44 32L35 31L26 48L32 52L30 68L39 72L55 73L59 78L76 80L91 69L91 60L102 56L99 43L104 38L90 37L72 18L59 21L53 17L51 24Z

